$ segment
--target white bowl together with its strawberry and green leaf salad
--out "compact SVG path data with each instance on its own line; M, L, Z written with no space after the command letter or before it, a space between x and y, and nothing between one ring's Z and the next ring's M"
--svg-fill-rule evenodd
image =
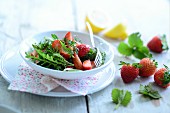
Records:
M113 50L106 41L94 36L102 55L96 67L97 49L91 47L88 34L68 31L43 32L21 43L20 55L36 71L61 79L80 79L104 69L113 61Z

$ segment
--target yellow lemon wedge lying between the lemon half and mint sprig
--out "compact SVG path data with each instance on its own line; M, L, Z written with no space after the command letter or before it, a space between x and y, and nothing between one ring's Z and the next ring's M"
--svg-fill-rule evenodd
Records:
M124 40L128 36L128 33L126 32L126 26L123 23L119 23L105 32L104 36Z

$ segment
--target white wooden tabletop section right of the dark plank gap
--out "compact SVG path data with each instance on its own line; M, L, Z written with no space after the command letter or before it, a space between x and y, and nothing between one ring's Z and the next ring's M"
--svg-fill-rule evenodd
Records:
M170 37L170 10L169 1L158 0L77 0L77 18L78 29L85 31L85 16L89 10L100 9L107 12L111 18L110 26L124 22L127 25L128 33L140 32L144 42L148 42L157 34L166 34ZM154 7L154 8L153 8ZM155 9L156 8L156 9ZM105 32L105 31L103 31ZM96 34L110 42L115 48L120 41L115 41L103 36L103 32ZM170 44L170 43L169 43ZM116 51L115 51L116 52ZM161 55L153 54L158 61L159 66L167 64L170 66L170 52ZM165 60L162 60L165 59ZM124 84L120 77L120 61L136 62L136 59L127 59L121 57L118 53L115 55L114 63L116 65L116 77L112 84L97 93L88 95L88 108L90 113L170 113L170 89L162 89L153 83L153 77L137 78L131 84ZM159 68L160 68L159 67ZM162 95L160 100L150 100L144 98L138 93L139 85L146 85L149 82L153 84L153 88L158 90ZM115 104L112 103L111 91L113 88L125 89L132 92L132 101L127 107L120 107L114 111Z

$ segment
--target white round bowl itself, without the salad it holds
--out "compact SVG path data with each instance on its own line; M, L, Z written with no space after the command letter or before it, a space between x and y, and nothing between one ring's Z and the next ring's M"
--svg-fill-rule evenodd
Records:
M94 69L86 70L86 71L73 71L73 72L60 71L60 70L54 70L54 69L49 69L49 68L39 66L33 63L30 59L25 57L25 52L28 52L32 49L32 44L43 41L45 36L51 37L51 34L56 34L59 38L63 39L63 37L65 36L67 32L68 31L48 31L48 32L42 32L42 33L36 34L31 38L25 39L21 43L20 48L19 48L19 53L21 57L23 58L23 60L34 70L44 75L49 75L54 78L61 78L61 79L81 79L81 78L85 78L88 76L93 76L96 73L103 70L104 68L106 68L111 62L113 62L113 58L114 58L113 48L108 42L106 42L105 40L103 40L102 38L98 36L94 36L95 45L97 48L99 48L100 51L104 51L106 53L106 60L105 60L104 65L98 68L94 68ZM76 35L82 41L82 43L88 44L91 46L89 34L77 32L77 31L71 31L71 33L73 36Z

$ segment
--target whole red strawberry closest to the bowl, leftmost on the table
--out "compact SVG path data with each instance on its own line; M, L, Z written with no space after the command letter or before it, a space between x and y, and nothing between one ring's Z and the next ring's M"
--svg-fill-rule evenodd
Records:
M120 61L120 65L123 65L121 68L123 82L130 83L139 75L140 65L138 63L129 64Z

